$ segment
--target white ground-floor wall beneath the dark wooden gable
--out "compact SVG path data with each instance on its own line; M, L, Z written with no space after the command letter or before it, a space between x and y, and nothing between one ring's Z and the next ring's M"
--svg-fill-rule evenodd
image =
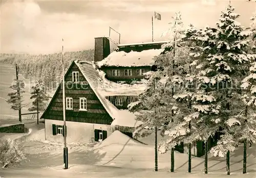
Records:
M52 124L63 125L63 121L45 119L46 140L63 143L63 136L52 134ZM107 137L111 135L110 125L90 124L82 122L66 121L67 142L72 143L91 143L94 138L94 129L107 131Z

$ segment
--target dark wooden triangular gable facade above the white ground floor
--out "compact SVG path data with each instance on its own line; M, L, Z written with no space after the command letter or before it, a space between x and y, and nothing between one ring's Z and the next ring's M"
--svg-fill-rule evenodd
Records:
M110 125L113 120L106 112L93 90L90 87L79 87L79 84L72 82L73 71L79 72L79 81L86 82L86 79L82 76L76 64L73 63L73 66L71 66L71 69L65 77L65 82L69 83L65 85L65 96L73 98L73 110L66 109L66 120ZM49 108L46 110L44 119L63 120L62 92L62 88L59 87ZM87 98L87 111L79 110L80 97Z

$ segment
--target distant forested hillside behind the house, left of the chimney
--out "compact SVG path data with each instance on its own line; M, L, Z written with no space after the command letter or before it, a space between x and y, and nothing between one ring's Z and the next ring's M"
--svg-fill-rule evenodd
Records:
M69 67L73 60L93 60L94 50L84 50L77 52L66 52L65 69ZM17 63L19 73L23 74L25 78L32 80L42 79L47 89L50 90L56 87L56 83L61 80L62 75L62 56L61 53L54 53L48 55L15 55L15 57L1 57L2 63Z

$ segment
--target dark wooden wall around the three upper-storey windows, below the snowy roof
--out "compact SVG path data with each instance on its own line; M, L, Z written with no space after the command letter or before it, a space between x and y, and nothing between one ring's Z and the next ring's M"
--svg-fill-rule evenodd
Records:
M132 76L124 76L124 70L131 69ZM151 71L150 66L139 66L139 67L115 67L115 68L107 68L105 67L103 71L106 73L106 78L109 80L129 80L129 79L142 79L144 76L137 75L137 69L144 69L145 72ZM113 70L120 70L120 76L113 76Z

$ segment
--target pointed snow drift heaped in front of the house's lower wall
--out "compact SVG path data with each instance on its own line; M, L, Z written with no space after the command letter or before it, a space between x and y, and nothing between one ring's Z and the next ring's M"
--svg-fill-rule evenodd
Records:
M109 137L107 137L105 140L103 140L99 145L95 145L95 147L106 147L111 146L113 148L113 144L118 145L144 145L126 135L124 135L122 132L116 130L114 131Z

